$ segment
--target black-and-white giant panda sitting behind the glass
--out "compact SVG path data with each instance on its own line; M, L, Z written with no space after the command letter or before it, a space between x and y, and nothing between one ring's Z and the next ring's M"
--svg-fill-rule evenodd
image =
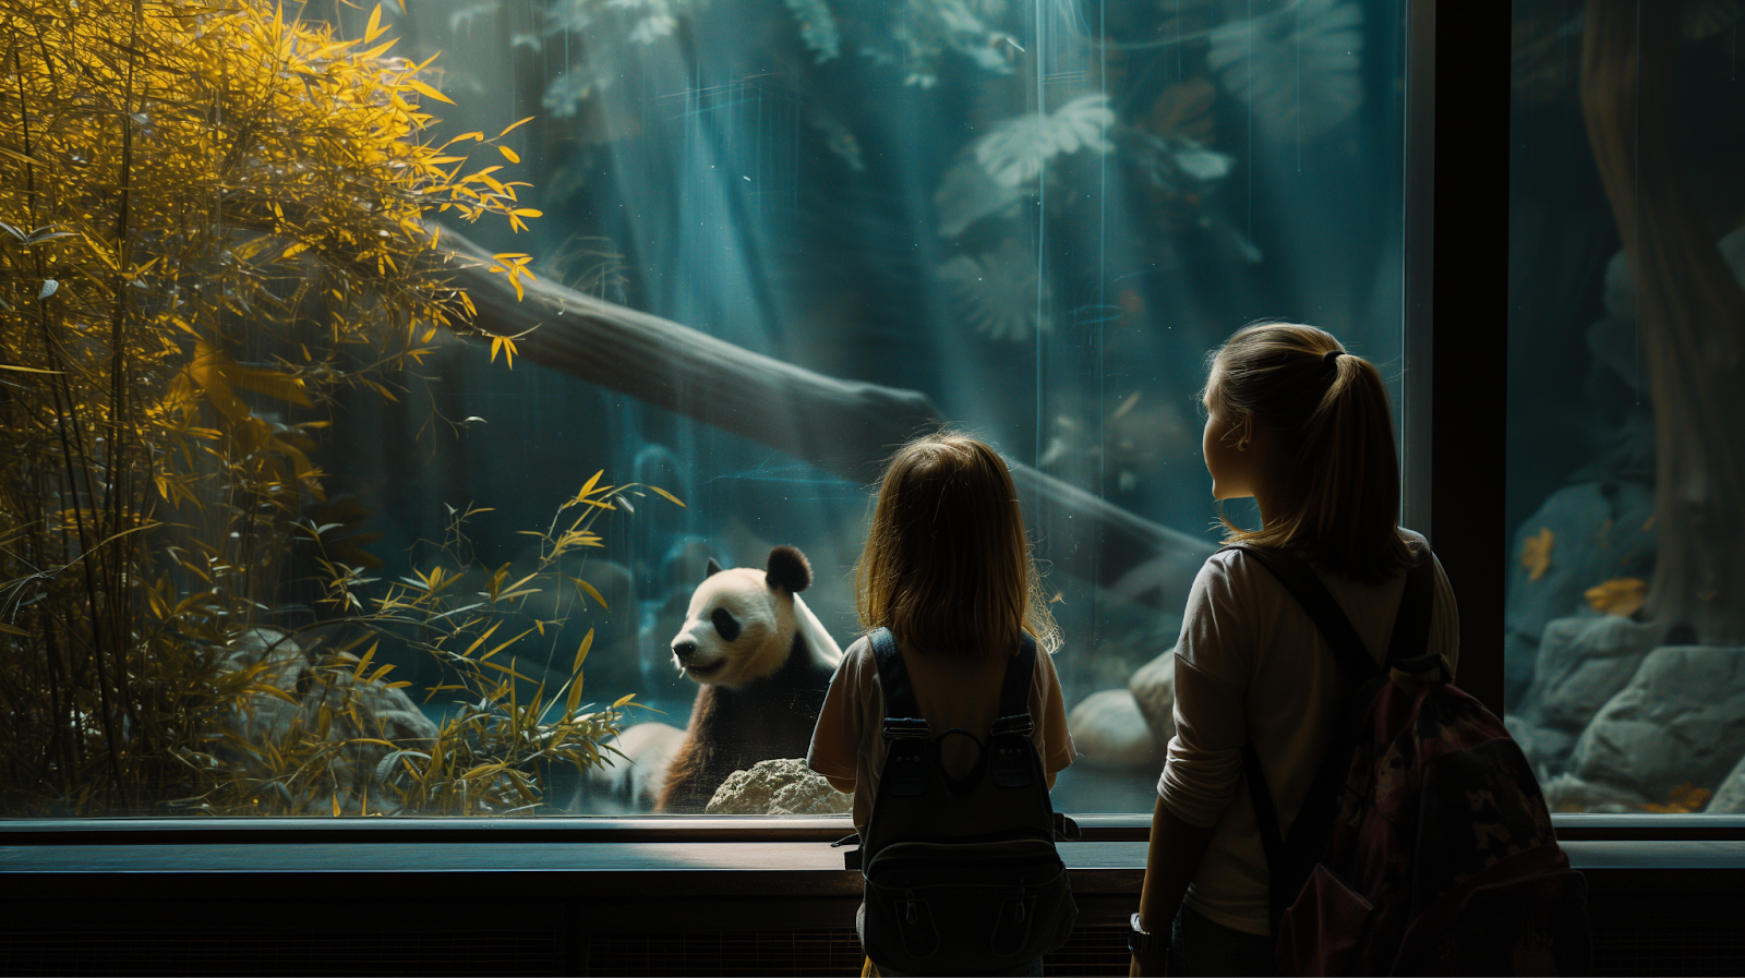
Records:
M843 650L799 593L811 565L796 547L763 570L708 561L672 638L679 671L701 683L656 811L700 812L735 771L806 757Z

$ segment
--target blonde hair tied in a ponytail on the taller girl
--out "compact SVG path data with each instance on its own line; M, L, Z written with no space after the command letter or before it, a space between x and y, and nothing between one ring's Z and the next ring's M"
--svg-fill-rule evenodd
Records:
M1267 525L1244 530L1220 511L1225 540L1304 549L1321 567L1370 582L1415 563L1399 532L1399 453L1375 364L1297 323L1253 323L1208 361L1211 403L1228 417L1253 415L1277 445Z

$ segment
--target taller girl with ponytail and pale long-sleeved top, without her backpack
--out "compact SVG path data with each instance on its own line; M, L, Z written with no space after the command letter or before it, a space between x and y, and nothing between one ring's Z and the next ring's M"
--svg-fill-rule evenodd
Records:
M1324 329L1255 323L1208 357L1204 457L1213 499L1253 497L1260 526L1220 513L1225 542L1305 558L1380 664L1406 570L1429 546L1399 528L1387 389ZM1436 567L1429 650L1459 655ZM1260 757L1288 833L1333 737L1345 678L1309 612L1256 560L1206 560L1174 650L1176 736L1157 781L1131 973L1274 975L1267 858L1242 771Z

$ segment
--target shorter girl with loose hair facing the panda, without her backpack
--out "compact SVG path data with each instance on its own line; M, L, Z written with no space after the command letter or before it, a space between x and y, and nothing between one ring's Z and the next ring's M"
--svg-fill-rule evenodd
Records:
M1073 762L1066 706L1052 652L1059 629L1042 596L1024 514L1005 462L960 432L916 438L879 481L866 549L855 568L862 636L843 652L806 764L838 791L852 791L866 830L885 767L885 697L866 633L888 628L930 736L951 729L986 741L1000 708L1019 635L1037 643L1030 680L1031 741L1047 783ZM968 737L946 737L941 764L953 778L975 765ZM1012 975L1042 975L1040 959Z

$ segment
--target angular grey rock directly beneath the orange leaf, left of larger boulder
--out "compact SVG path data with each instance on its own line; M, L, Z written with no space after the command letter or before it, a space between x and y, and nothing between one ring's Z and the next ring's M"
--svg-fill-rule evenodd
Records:
M1663 631L1597 612L1550 622L1516 713L1536 727L1579 734L1630 683Z

